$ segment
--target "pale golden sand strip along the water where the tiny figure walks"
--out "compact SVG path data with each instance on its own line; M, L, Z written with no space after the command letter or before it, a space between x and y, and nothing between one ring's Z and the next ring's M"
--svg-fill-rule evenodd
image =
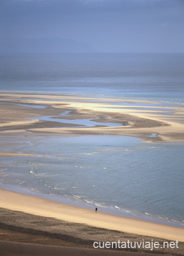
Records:
M0 191L1 207L5 209L42 217L57 218L58 220L78 224L86 224L94 226L95 228L104 228L140 236L184 242L184 228L156 224L136 218L115 216L104 212L98 212L96 214L95 210L58 203L37 196L5 191L2 188L0 188ZM27 204L27 202L29 202L29 204Z

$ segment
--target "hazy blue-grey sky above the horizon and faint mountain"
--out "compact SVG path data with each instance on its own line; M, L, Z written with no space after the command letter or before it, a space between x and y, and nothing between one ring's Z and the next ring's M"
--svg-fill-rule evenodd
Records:
M0 37L61 37L97 52L184 52L184 0L0 0Z

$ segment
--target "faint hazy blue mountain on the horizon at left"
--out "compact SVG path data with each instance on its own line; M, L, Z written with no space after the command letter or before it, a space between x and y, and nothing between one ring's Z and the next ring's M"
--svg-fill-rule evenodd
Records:
M0 52L94 52L90 44L64 38L0 38Z

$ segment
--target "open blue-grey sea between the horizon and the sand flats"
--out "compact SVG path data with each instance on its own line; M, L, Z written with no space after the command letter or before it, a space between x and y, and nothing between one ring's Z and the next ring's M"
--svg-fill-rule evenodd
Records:
M1 53L0 90L87 94L183 105L184 54Z

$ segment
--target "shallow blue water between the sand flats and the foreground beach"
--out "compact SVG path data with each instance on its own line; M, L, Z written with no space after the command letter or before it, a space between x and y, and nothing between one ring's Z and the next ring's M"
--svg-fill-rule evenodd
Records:
M11 157L3 184L182 225L184 143L106 135L22 139L27 144L17 138L12 149L38 156Z

